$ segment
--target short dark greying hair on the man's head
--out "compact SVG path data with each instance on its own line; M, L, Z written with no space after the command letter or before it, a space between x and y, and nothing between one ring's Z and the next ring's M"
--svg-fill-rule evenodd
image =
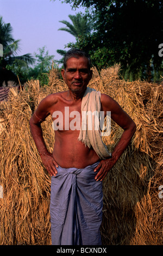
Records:
M88 60L89 69L91 68L92 63L91 63L90 56L86 52L84 52L82 50L79 50L77 48L72 48L68 52L66 52L66 54L65 54L65 57L64 57L64 69L66 69L67 60L72 58L72 57L77 58L77 59L80 58L80 57L86 57L87 60Z

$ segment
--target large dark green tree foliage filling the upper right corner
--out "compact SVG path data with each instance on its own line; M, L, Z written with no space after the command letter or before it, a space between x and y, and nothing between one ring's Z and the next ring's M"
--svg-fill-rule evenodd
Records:
M87 8L95 20L93 32L76 46L89 52L99 69L121 63L131 80L151 80L162 71L159 44L163 34L163 3L155 0L65 0L73 8Z

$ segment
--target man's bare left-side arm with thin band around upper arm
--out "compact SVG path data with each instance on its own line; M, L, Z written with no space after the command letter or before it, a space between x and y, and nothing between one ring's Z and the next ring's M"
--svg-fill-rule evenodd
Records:
M32 133L37 150L39 151L43 165L45 166L45 168L51 176L55 176L57 174L57 169L55 168L55 166L58 167L58 164L57 162L55 162L53 155L49 153L49 151L46 148L41 128L42 121L45 120L46 117L48 117L49 115L49 108L51 106L51 101L49 98L50 97L47 96L40 102L35 113L29 120L29 125L30 131Z

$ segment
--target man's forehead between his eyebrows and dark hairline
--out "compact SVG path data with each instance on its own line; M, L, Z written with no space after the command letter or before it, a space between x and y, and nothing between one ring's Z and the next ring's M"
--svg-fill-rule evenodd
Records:
M77 66L88 68L89 61L86 57L71 57L67 60L66 68L76 68Z

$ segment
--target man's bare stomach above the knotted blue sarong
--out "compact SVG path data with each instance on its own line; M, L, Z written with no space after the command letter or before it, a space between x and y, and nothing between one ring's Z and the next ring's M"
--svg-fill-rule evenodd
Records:
M62 168L85 168L99 161L96 152L78 141L78 136L55 139L53 157Z

